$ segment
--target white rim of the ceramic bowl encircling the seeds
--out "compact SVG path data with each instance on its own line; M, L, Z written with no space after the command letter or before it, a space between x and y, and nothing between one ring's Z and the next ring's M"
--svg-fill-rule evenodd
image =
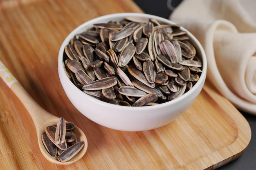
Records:
M88 21L84 22L83 24L80 24L79 26L77 26L73 31L71 31L67 35L65 40L62 42L59 53L58 53L58 74L59 74L59 78L61 78L61 74L65 74L65 71L64 71L63 66L62 66L62 64L63 64L63 53L64 53L65 45L67 45L70 42L71 38L73 38L74 35L76 33L78 33L78 31L81 31L82 29L83 30L88 29L87 28L88 25L92 25L93 23L97 23L98 20L106 20L106 22L107 22L107 21L110 21L111 18L125 18L126 16L138 16L138 17L145 17L145 18L155 18L156 20L159 20L161 22L165 22L165 23L169 23L169 24L177 24L177 23L175 23L171 20L168 20L166 18L162 18L162 17L156 16L156 15L151 15L151 14L146 14L146 13L113 13L113 14L108 14L108 15L102 15L102 16L99 16L97 18L93 18L92 20L88 20ZM115 20L115 19L113 19L113 20ZM202 73L201 73L201 75L198 79L198 82L195 83L195 85L193 86L193 88L191 88L190 91L184 93L182 96L180 96L176 99L173 99L171 101L164 102L164 103L161 103L161 104L153 105L153 106L150 106L150 107L149 106L128 107L128 106L115 105L115 104L110 104L110 103L107 103L107 102L103 102L99 99L96 99L96 98L94 98L90 95L87 95L87 94L83 93L83 91L81 91L79 88L77 88L70 81L70 79L67 76L64 76L63 78L65 79L65 82L67 82L70 86L74 87L75 91L79 91L77 93L81 93L81 94L85 95L86 98L92 100L93 102L96 102L97 104L108 106L108 107L111 107L111 108L128 108L130 110L151 110L153 108L155 109L155 108L162 108L164 106L169 106L170 104L177 104L180 101L182 101L184 98L193 94L197 90L198 86L204 84L204 81L206 79L206 73L207 73L207 57L206 57L206 54L204 52L204 49L203 49L202 45L197 40L197 38L195 38L195 36L192 33L190 33L187 29L185 29L183 26L180 26L180 29L186 31L187 35L192 39L193 43L196 44L197 51L200 51L200 53L201 53L201 59L202 59L202 65L203 66L202 66ZM63 84L62 84L62 86L63 86Z

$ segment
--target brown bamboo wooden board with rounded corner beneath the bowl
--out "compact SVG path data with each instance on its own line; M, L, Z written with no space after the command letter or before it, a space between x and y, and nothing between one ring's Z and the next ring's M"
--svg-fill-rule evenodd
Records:
M249 124L208 81L184 115L149 131L112 130L72 106L58 79L62 41L83 22L120 12L143 11L131 0L0 0L0 60L40 106L88 137L83 159L65 166L50 163L39 150L29 114L0 81L1 170L215 169L247 148Z

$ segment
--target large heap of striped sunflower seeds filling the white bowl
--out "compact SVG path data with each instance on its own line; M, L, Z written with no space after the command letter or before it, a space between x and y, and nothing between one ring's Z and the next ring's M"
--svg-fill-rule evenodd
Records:
M84 93L123 106L151 106L189 91L201 57L177 24L126 17L94 24L65 46L63 67Z

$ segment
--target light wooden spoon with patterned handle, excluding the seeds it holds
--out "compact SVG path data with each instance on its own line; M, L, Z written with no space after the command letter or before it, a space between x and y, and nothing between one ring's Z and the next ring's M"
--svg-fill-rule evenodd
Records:
M51 161L52 163L64 165L74 163L75 161L83 157L88 147L88 141L83 131L76 126L72 131L76 135L78 141L84 142L82 150L67 162L60 162L58 161L57 157L52 157L45 149L45 146L42 141L42 134L43 132L45 132L45 128L47 126L56 124L59 118L48 113L41 106L39 106L34 101L34 99L27 93L27 91L25 91L25 89L21 86L21 84L17 81L17 79L11 74L8 68L4 66L4 64L1 61L0 77L4 80L7 86L9 86L13 93L18 97L18 99L20 99L20 102L22 102L22 104L27 109L29 115L33 119L34 125L36 127L39 148L47 160Z

